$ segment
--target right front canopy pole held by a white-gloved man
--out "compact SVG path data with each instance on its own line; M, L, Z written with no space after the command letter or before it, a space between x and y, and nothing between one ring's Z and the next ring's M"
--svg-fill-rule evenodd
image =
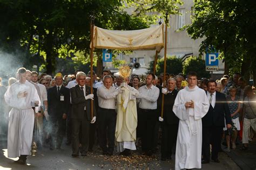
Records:
M168 19L169 13L165 13L165 43L164 43L164 80L163 80L163 88L165 88L165 74L166 74L166 53L167 53L167 25L169 23ZM164 94L162 94L162 105L161 105L161 118L163 118L164 115Z

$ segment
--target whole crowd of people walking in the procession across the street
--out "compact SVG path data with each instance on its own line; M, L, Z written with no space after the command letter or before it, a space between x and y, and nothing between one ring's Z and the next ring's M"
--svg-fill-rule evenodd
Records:
M0 86L8 157L25 164L32 141L38 149L53 150L62 148L63 139L72 147L71 157L85 157L97 144L103 155L113 155L115 147L126 156L141 148L150 157L160 139L162 161L175 153L176 169L201 168L210 163L210 154L219 162L222 139L230 152L238 141L240 149L248 149L255 134L255 89L239 73L220 80L198 79L195 72L149 73L142 80L136 74L122 78L103 70L99 77L76 70L52 78L19 69L8 87Z

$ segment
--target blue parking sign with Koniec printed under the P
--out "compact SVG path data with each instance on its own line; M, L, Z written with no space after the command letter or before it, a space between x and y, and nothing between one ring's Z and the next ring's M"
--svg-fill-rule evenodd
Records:
M206 71L219 71L219 53L206 53L205 69Z

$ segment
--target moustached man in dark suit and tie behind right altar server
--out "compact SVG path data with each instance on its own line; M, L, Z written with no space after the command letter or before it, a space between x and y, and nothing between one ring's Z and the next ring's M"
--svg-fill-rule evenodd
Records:
M216 91L216 82L214 80L207 81L207 97L210 102L210 108L202 119L203 124L203 144L202 164L210 162L210 144L212 144L212 161L220 162L218 152L220 151L220 142L223 134L225 121L227 128L231 128L231 115L227 105L225 94Z

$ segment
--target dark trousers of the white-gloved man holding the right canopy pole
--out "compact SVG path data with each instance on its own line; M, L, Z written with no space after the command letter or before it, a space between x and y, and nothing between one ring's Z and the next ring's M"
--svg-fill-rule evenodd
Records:
M168 125L163 122L161 138L161 157L167 158L172 155L172 148L176 144L179 125Z

